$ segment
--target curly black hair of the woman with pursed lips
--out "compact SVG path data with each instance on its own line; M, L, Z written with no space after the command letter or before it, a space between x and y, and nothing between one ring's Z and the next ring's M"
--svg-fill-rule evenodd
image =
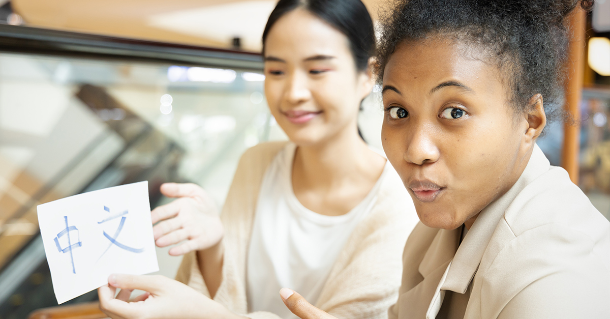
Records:
M564 62L569 29L567 16L583 0L398 0L381 22L378 81L399 43L437 36L453 37L482 48L503 70L515 111L527 111L529 100L543 97L547 120L562 116Z

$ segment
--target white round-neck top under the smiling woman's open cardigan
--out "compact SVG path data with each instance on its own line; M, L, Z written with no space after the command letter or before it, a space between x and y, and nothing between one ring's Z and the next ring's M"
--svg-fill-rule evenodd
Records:
M296 145L287 144L265 172L248 249L248 311L297 318L282 303L287 287L314 304L329 271L354 227L377 200L384 171L364 200L341 216L325 216L305 208L292 190Z

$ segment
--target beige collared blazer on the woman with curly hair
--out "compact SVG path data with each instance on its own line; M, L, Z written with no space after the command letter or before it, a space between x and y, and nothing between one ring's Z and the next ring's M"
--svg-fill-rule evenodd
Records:
M610 318L610 223L537 146L461 233L415 227L390 318Z

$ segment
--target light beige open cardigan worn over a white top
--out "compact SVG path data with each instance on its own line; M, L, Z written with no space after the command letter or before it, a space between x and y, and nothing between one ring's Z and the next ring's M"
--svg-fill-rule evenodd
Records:
M270 312L248 314L246 257L260 184L285 144L260 144L244 153L221 213L225 227L223 281L214 300L250 318L279 318ZM401 251L418 218L400 177L393 169L388 173L375 206L340 252L320 297L310 300L336 317L386 318L388 307L398 296ZM176 279L209 296L194 252L185 255Z

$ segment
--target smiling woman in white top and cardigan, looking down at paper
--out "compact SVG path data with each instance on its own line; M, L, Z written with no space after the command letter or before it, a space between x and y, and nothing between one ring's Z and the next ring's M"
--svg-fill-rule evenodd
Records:
M110 317L294 317L282 287L338 317L386 317L417 217L398 174L357 130L374 83L370 15L360 0L281 0L263 45L265 95L290 141L246 151L220 218L198 186L163 185L180 198L152 211L156 244L186 240L170 254L185 254L177 279L191 288L110 276L99 289ZM127 303L134 288L148 293Z

